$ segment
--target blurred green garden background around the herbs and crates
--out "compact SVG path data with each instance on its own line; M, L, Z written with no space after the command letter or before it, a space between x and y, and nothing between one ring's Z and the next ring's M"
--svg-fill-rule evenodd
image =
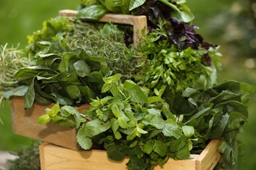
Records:
M41 29L45 20L58 15L58 10L76 9L79 0L1 0L0 44L20 43L26 46L26 36ZM194 24L205 41L221 45L223 70L219 82L238 80L256 85L256 2L255 0L188 1L195 15ZM256 95L249 103L249 124L244 125L238 139L246 144L241 169L256 169ZM29 145L32 139L12 133L9 103L0 110L0 151L17 150Z

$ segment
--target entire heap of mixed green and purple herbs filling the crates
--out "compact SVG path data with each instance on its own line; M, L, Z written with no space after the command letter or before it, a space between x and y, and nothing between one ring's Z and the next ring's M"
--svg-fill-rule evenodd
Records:
M20 86L5 97L24 96L26 109L56 103L39 124L75 127L82 148L98 143L112 160L129 156L129 169L188 159L211 139L223 141L220 166L238 169L236 135L256 88L216 82L221 54L190 25L186 1L80 2L75 19L53 18L29 37L32 66L16 72ZM108 12L147 16L139 48L129 45L129 29L91 22ZM91 107L78 112L74 106L83 103Z

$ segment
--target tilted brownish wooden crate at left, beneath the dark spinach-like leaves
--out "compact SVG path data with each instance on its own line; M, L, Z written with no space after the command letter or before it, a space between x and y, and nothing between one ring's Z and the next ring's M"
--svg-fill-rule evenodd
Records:
M24 137L30 137L39 141L53 143L73 150L81 150L77 144L75 128L58 126L54 124L41 125L37 123L39 116L45 114L45 109L53 105L40 105L34 103L31 109L24 109L23 97L12 97L12 131ZM89 105L77 107L77 110L86 110Z

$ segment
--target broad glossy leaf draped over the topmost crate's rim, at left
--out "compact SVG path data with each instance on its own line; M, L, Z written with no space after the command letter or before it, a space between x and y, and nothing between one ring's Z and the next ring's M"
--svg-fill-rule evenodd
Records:
M82 20L99 20L108 10L103 5L91 5L79 10L76 17Z

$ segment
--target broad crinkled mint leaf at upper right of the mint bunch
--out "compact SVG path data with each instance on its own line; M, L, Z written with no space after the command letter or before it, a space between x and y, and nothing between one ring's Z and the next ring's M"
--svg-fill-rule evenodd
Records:
M148 96L135 82L131 80L125 80L123 84L123 93L127 97L131 97L130 100L135 103L146 103Z

